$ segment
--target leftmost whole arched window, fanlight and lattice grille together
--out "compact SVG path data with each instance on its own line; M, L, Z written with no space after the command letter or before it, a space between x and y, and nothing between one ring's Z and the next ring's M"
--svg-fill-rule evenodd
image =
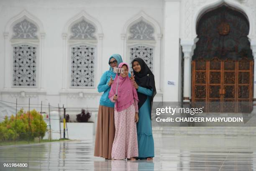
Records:
M36 25L26 18L13 26L13 87L37 86L37 31Z

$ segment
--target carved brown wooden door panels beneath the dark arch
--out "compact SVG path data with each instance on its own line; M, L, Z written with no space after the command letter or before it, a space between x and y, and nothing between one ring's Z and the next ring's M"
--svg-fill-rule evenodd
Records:
M241 112L240 102L247 102L250 112L252 100L252 60L192 61L192 104L200 102L205 112Z

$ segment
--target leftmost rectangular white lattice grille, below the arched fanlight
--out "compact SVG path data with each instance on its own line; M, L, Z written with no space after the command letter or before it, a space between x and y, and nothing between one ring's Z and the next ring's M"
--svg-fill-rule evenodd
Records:
M13 86L36 87L36 47L13 47Z

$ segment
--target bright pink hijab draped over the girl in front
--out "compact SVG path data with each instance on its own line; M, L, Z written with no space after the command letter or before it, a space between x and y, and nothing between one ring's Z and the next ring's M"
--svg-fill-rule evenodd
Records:
M118 65L118 68L121 68L123 65L126 65L129 71L129 66L125 62L120 63ZM118 77L119 77L119 80L118 80ZM118 100L115 102L115 107L116 107L116 110L120 112L130 107L134 103L134 99L138 100L138 95L128 75L125 78L123 78L122 76L118 76L118 74L116 74L114 83L111 85L111 89L108 95L109 98L115 95L117 82L118 82Z

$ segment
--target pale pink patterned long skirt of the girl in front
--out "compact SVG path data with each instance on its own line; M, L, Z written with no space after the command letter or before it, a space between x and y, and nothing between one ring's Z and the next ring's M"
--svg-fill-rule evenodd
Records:
M134 104L120 112L115 109L115 138L111 156L116 160L138 157Z

